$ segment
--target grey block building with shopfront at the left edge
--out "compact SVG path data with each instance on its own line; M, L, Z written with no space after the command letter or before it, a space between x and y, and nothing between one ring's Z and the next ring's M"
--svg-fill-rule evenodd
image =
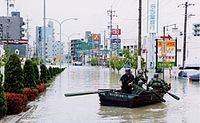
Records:
M24 25L20 12L0 17L0 43L4 45L4 49L9 48L12 53L17 52L21 57L27 57L28 40L23 39Z

